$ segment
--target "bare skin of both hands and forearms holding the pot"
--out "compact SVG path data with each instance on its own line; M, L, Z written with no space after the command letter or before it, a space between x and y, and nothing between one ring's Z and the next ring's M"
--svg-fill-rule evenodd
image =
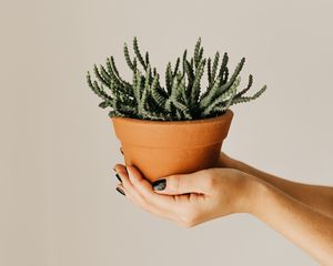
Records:
M114 171L132 203L182 227L248 213L322 265L333 264L333 187L283 180L223 153L214 168L161 177L163 191L154 191L132 165L117 164Z

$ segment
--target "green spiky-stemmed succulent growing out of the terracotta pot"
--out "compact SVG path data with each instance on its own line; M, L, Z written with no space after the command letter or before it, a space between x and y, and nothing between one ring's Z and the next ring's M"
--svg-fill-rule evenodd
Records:
M233 104L249 102L259 98L265 90L264 85L252 96L245 96L253 83L249 75L248 85L239 91L241 76L239 75L245 58L236 65L232 74L229 73L229 57L225 52L220 64L220 53L214 59L203 58L201 38L198 39L194 54L188 59L185 50L176 59L174 66L168 63L165 70L165 86L160 83L157 68L150 63L149 52L142 55L138 39L133 39L133 60L124 43L125 62L132 70L132 82L124 81L114 63L114 58L107 59L105 65L94 64L93 72L97 80L91 80L88 71L87 81L92 91L103 101L100 108L111 108L109 116L125 116L141 120L198 120L221 115ZM139 69L141 65L141 70ZM201 79L206 68L208 86L201 90Z

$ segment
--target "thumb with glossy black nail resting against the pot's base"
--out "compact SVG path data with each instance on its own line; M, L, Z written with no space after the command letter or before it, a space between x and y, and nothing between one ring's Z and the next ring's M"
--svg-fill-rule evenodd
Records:
M169 175L152 183L152 188L159 194L179 195L185 193L208 193L210 176L204 171L191 174Z

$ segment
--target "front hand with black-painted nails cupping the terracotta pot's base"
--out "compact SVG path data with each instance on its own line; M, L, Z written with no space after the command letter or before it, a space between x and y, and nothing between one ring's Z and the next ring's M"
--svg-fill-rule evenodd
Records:
M134 166L118 164L118 190L143 209L183 227L232 213L250 212L252 176L232 168L209 168L170 175L151 184Z

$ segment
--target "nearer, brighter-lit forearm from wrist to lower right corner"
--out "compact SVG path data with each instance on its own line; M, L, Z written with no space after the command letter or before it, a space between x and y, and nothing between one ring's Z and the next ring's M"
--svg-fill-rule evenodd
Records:
M323 265L333 264L333 219L253 178L249 213L270 225Z

